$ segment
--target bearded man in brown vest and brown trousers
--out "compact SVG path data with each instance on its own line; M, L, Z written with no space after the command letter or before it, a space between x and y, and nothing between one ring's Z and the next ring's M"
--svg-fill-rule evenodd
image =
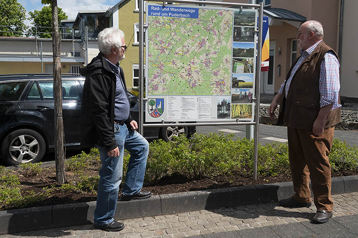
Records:
M318 21L304 22L297 35L301 56L292 64L269 107L275 117L280 104L279 125L287 126L288 156L295 194L280 200L285 207L309 207L312 192L316 223L332 217L331 173L328 154L333 143L334 125L341 121L339 97L340 63L327 46Z

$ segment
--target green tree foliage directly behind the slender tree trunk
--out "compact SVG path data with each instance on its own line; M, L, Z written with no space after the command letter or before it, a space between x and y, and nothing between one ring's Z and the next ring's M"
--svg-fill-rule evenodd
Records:
M32 19L32 24L34 27L37 27L37 36L40 38L51 38L52 33L52 9L50 6L43 6L40 11L29 12L30 19ZM62 11L61 8L57 10L58 14L58 24L61 20L68 19L66 13ZM29 36L36 36L35 28L31 29Z

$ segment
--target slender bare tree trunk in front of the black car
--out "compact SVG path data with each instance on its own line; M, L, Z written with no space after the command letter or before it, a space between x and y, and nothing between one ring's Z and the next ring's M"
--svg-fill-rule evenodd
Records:
M64 172L64 132L62 119L62 80L61 80L61 41L58 32L57 0L52 0L52 44L53 44L53 76L55 100L55 160L56 182L66 182Z

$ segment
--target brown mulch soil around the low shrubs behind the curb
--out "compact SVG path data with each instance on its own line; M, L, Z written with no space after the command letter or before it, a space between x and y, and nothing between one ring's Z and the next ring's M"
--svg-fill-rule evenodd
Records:
M56 173L54 167L46 167L37 175L26 176L23 169L13 171L19 175L21 184L21 193L27 194L27 191L33 191L35 194L41 193L46 187L59 187L56 183ZM89 168L84 171L87 176L98 175L98 171ZM332 176L353 175L352 173L332 174ZM68 182L78 179L78 175L73 172L66 172ZM229 176L219 175L213 178L203 178L198 180L189 180L181 175L172 175L161 178L155 184L144 184L143 190L151 191L153 195L180 193L188 191L200 191L208 189L229 188L238 186L253 186L265 183L275 183L290 181L290 174L278 174L277 176L258 175L257 180L248 174L232 174ZM119 194L121 195L121 194ZM74 192L74 191L58 191L51 192L51 197L32 204L32 206L45 206L53 204L66 204L76 202L96 201L96 194L92 192ZM16 207L12 207L16 208ZM11 209L11 208L8 208ZM1 208L0 208L1 210Z

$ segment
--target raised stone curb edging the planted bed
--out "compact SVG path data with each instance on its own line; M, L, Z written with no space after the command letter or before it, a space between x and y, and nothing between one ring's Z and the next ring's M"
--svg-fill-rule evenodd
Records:
M118 201L115 219L167 215L203 209L264 204L293 194L292 182L156 195ZM332 195L358 192L358 176L332 178ZM90 224L96 202L0 211L0 234Z

